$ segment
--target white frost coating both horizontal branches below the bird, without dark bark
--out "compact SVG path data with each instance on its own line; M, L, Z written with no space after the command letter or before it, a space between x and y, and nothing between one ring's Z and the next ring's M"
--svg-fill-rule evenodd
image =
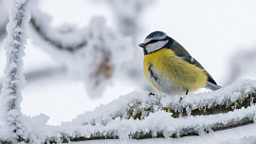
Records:
M209 99L212 99L211 103L216 101L223 103L221 101L226 101L228 96L229 99L235 101L235 99L244 98L246 93L253 92L255 84L256 81L238 81L216 92L190 94L183 99L184 103L187 103L187 99L190 99L198 106L209 105ZM216 95L214 95L215 93ZM149 92L135 91L106 105L101 105L92 112L86 112L70 122L64 122L61 126L46 125L48 117L45 115L24 118L27 121L26 125L29 133L34 134L37 139L41 141L54 139L57 142L61 142L64 137L68 140L77 136L87 138L94 136L118 136L120 140L128 140L143 135L156 137L162 134L165 138L172 137L173 135L186 135L192 132L206 135L208 132L212 134L212 130L215 128L225 128L233 124L247 122L247 119L254 120L256 116L256 105L253 104L250 107L230 111L229 113L174 118L171 117L172 113L161 110L162 101L175 105L175 103L179 102L178 98L180 96L160 94L149 97L148 94ZM198 100L197 95L202 100ZM146 110L150 106L155 106L153 112L144 114L144 117L140 119L127 117L127 112L131 108L141 111ZM142 112L142 115L143 113L145 112Z

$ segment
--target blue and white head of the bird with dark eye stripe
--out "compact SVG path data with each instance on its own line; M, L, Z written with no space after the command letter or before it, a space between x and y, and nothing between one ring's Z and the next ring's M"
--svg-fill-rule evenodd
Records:
M146 37L144 43L139 44L139 46L143 48L144 54L146 55L163 48L169 41L170 37L168 37L166 33L162 31L154 31L150 33Z

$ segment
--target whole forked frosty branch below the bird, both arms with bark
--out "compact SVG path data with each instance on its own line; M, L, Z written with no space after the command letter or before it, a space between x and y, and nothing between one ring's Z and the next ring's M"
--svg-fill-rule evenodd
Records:
M203 135L253 123L255 86L256 81L238 81L214 92L184 96L182 100L179 96L149 97L149 92L135 91L59 127L47 126L44 115L27 117L27 123L42 142ZM212 111L220 108L217 114Z

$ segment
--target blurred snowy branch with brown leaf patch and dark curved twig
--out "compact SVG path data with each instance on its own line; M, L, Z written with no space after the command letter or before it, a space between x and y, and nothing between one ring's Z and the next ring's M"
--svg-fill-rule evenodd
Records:
M33 10L32 16L33 41L64 63L71 78L83 80L91 98L101 97L122 63L131 60L129 38L106 27L102 17L93 17L88 27L78 29L66 25L50 27L50 17L38 9Z

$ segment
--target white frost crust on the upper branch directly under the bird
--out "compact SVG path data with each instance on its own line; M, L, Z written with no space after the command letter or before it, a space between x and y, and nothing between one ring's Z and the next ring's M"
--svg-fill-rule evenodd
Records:
M172 108L179 111L181 108L191 110L211 107L212 105L226 105L227 100L230 99L229 103L236 102L236 99L246 99L249 91L255 86L255 81L238 81L233 83L231 86L227 86L223 89L206 92L200 94L189 94L184 96L180 102L180 96L167 96L158 94L155 97L149 98L147 92L133 92L128 96L121 96L119 99L113 100L107 105L102 105L96 108L93 112L87 112L87 114L81 115L73 120L78 124L91 123L91 121L99 121L106 123L113 117L129 118L127 111L137 110L142 112L142 117L148 116L149 108L153 108L152 111L158 111L162 107ZM157 107L158 106L158 107ZM189 111L190 112L190 111ZM137 113L134 112L135 116Z

